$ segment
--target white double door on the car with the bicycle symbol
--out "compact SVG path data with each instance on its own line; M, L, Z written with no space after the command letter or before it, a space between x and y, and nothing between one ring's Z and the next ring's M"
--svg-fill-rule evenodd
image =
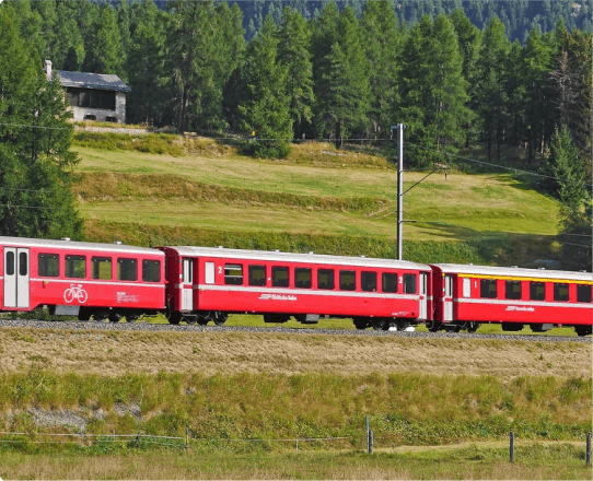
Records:
M28 307L28 249L4 247L4 307Z

